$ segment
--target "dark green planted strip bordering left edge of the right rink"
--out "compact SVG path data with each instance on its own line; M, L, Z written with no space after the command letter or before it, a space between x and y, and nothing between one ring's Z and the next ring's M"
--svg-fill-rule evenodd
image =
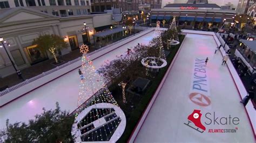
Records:
M182 43L184 38L185 35L179 35L180 44ZM146 109L147 104L149 104L150 99L154 95L154 92L157 90L158 85L166 74L166 71L169 68L174 56L177 54L180 44L172 46L170 49L165 49L166 51L170 51L170 54L166 58L167 66L161 69L156 77L150 78L151 84L149 85L149 87L147 87L147 90L142 96L127 97L127 101L130 102L124 104L122 103L122 99L120 99L120 95L122 94L120 87L110 87L113 97L116 99L116 101L120 105L120 108L122 108L126 115L126 128L118 142L127 142L127 140L129 139L132 131L134 130L134 127L137 125L140 119L140 116L142 116L143 111ZM118 97L119 99L117 99ZM131 106L133 106L133 108L131 108Z

